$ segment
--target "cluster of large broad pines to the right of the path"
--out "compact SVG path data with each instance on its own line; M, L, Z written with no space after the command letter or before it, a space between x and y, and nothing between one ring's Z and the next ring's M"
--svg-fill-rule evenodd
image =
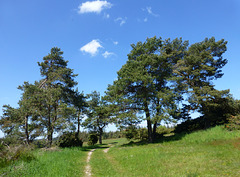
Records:
M160 123L189 119L191 111L204 115L206 126L219 113L223 117L229 91L216 90L212 81L223 75L226 44L215 38L189 45L181 38L156 37L132 44L127 63L107 91L118 122L146 120L148 141L153 142ZM217 108L221 112L214 112Z

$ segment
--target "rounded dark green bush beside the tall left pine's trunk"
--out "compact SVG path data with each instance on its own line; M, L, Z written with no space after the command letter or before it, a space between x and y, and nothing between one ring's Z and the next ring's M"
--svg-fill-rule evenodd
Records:
M58 138L58 146L65 147L82 147L82 140L78 137L77 133L65 132Z

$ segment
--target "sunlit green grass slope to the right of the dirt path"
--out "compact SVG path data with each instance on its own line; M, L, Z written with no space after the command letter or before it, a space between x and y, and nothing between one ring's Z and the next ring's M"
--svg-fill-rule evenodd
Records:
M239 138L240 131L215 127L162 143L116 146L93 154L92 171L94 176L238 176Z

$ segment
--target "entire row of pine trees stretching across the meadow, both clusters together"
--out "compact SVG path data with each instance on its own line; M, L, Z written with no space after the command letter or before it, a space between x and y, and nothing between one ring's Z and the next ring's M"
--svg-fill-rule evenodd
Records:
M132 44L128 60L118 71L104 97L96 91L84 95L75 89L77 76L67 67L59 48L39 62L42 79L25 82L18 108L4 105L0 126L6 135L23 134L26 143L55 132L75 131L80 125L99 133L111 122L119 127L147 121L148 141L156 138L162 122L190 119L201 113L206 126L225 121L231 112L229 91L218 91L213 80L223 76L227 42L215 38L189 45L181 38L148 38ZM86 120L82 123L83 116Z

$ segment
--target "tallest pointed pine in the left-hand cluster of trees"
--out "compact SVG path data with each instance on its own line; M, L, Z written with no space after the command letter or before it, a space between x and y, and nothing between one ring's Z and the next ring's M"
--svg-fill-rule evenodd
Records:
M47 140L52 144L54 131L66 128L68 118L74 113L74 109L69 107L69 100L73 87L77 84L74 81L76 74L67 67L68 61L64 60L63 52L54 47L51 53L39 62L41 81L39 87L42 89L41 114L42 123L47 128Z

